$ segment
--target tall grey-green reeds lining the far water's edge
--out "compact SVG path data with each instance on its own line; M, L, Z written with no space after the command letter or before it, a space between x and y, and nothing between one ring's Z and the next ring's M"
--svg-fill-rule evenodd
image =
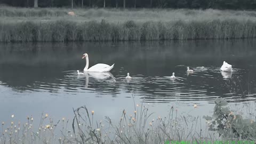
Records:
M106 20L74 22L0 22L1 42L155 41L255 38L256 22L247 20L110 23Z

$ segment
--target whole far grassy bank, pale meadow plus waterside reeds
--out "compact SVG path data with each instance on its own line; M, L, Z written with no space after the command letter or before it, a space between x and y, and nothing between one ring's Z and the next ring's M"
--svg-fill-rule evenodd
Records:
M144 41L256 37L256 12L1 7L0 42Z

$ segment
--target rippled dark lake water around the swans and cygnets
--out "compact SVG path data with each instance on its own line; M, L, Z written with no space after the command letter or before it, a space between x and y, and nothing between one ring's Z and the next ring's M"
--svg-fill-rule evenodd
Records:
M219 97L243 108L256 98L255 47L255 39L2 43L0 121L8 121L12 114L21 121L30 115L38 120L42 112L71 119L73 108L84 105L99 119L115 119L123 109L132 114L133 101L148 103L151 111L163 116L171 106L182 115L211 115ZM76 70L85 67L83 53L89 54L90 66L115 63L115 67L111 73L77 76ZM233 65L233 73L219 70L224 60ZM187 66L194 73L187 73ZM201 66L205 69L196 68ZM125 79L127 73L130 81Z

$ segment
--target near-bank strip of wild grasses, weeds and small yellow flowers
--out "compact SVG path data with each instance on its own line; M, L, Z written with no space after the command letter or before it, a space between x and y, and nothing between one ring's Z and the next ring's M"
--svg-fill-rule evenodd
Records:
M169 115L158 116L154 120L148 105L143 103L134 106L132 115L123 110L120 119L105 117L105 122L95 121L93 116L97 115L97 111L94 113L86 107L74 110L74 118L70 120L62 118L53 122L48 114L42 114L39 126L34 126L33 117L28 117L27 123L20 124L12 115L11 122L2 123L0 143L153 144L166 141L255 141L254 120L235 114L227 105L228 102L223 99L215 100L213 116L205 116L204 119L185 116L179 110L169 107ZM205 126L206 130L202 130ZM208 131L207 126L215 134ZM60 136L57 136L59 131Z

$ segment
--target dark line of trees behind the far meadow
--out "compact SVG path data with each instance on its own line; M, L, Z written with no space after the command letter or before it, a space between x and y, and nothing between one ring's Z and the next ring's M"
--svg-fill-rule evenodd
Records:
M256 9L256 0L0 0L0 3L20 7Z

